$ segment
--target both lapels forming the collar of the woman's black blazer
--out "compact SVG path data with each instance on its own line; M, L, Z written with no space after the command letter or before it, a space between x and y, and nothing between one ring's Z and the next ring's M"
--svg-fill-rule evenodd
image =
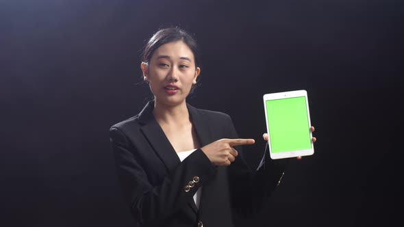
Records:
M209 121L204 116L204 112L201 109L192 107L192 105L188 103L187 108L201 146L212 142L212 129ZM141 130L144 136L147 137L151 146L153 146L153 149L157 152L157 155L160 156L166 168L168 168L168 171L171 172L177 167L180 161L160 124L155 120L153 109L154 101L149 101L142 111L140 111L138 120L142 125Z

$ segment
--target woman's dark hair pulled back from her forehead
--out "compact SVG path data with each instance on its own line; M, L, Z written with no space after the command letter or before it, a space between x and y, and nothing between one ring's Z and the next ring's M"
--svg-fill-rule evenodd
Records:
M168 42L183 41L194 54L195 67L199 66L199 56L197 41L190 36L184 29L178 27L168 27L160 29L150 38L144 46L142 53L142 62L149 63L154 51Z

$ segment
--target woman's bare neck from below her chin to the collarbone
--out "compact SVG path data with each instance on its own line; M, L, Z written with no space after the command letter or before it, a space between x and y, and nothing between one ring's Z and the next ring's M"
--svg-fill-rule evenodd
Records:
M168 106L155 101L153 116L159 124L186 124L190 122L186 102Z

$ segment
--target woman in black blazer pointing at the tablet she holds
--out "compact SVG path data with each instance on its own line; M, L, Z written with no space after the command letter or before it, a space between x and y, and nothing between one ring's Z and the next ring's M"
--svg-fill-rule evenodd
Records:
M154 100L110 129L118 179L138 226L233 226L233 215L260 209L288 159L264 155L260 168L249 170L241 146L254 139L239 139L227 114L186 103L201 72L194 39L179 28L160 29L140 67Z

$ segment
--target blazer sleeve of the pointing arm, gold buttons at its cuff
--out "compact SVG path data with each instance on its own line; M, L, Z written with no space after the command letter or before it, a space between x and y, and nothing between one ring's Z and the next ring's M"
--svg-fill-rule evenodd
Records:
M198 149L166 174L159 184L153 185L142 168L144 165L136 160L139 150L120 129L110 129L110 144L124 200L140 224L161 224L162 220L193 200L194 193L216 172L214 165ZM194 185L186 190L190 181Z

